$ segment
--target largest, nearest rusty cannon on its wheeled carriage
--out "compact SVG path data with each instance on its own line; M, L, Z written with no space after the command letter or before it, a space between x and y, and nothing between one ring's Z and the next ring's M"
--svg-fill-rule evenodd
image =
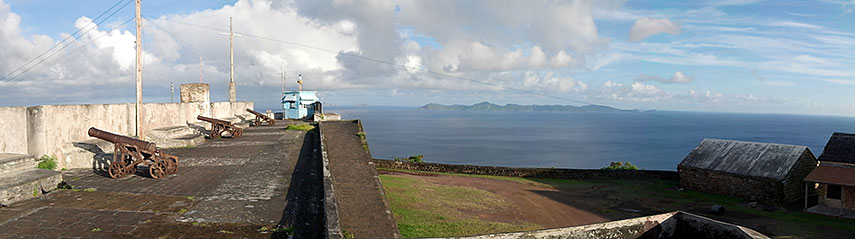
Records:
M158 179L178 172L178 157L160 152L152 142L89 128L89 136L113 143L113 162L107 172L112 178L123 178L137 172L137 165L148 166L149 175Z

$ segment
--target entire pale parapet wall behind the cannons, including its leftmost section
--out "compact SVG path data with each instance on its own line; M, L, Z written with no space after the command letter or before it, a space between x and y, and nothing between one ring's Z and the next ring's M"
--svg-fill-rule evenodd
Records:
M247 115L253 102L148 103L142 105L142 130L198 122L197 115L230 118ZM55 155L63 159L62 148L72 142L91 139L89 127L123 135L135 133L134 104L39 105L0 107L0 152ZM59 160L59 167L66 167Z

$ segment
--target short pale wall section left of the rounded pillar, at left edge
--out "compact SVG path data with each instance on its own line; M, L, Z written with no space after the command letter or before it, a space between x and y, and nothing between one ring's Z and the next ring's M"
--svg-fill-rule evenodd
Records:
M27 154L27 108L0 107L0 153Z

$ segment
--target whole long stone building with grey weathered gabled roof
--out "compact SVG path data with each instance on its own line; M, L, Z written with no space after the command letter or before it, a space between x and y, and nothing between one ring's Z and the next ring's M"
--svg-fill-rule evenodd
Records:
M804 197L804 178L814 168L807 146L704 139L677 171L686 189L788 203Z

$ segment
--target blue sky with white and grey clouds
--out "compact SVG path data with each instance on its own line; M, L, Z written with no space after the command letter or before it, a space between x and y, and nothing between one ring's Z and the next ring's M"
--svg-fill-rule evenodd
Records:
M852 0L142 2L144 102L200 72L227 100L233 17L237 96L257 108L277 108L285 71L328 105L855 116ZM133 16L0 0L0 106L133 102Z

